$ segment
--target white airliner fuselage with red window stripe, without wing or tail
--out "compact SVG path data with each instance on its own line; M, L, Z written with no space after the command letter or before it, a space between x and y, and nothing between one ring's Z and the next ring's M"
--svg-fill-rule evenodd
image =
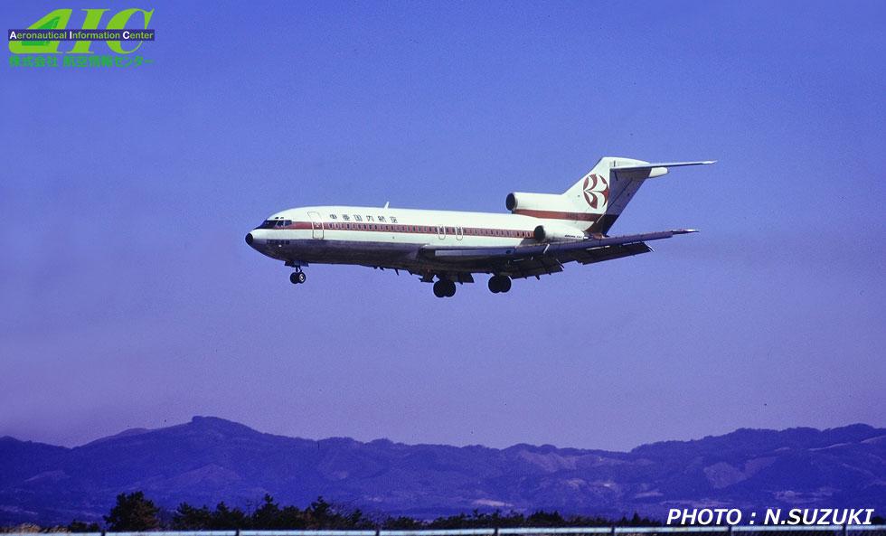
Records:
M584 238L570 221L489 212L424 211L399 208L315 206L273 214L247 241L254 249L296 266L357 264L434 269L419 256L423 247L489 248L537 244L539 225L559 226L570 238Z

